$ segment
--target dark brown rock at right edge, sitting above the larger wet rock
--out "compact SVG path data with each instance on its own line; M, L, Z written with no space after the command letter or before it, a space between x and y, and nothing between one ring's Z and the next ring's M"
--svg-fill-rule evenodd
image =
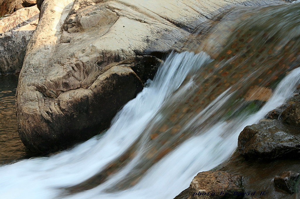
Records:
M300 128L300 102L294 102L289 105L282 112L281 118L284 123Z

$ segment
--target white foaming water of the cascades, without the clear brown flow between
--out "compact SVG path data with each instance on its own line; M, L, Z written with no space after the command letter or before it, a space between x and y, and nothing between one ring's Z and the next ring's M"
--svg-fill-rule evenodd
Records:
M141 134L147 132L147 127L160 114L164 103L174 98L175 91L177 100L184 99L187 91L195 86L190 80L180 87L186 76L195 74L199 67L210 61L205 53L172 53L154 80L122 108L103 136L96 136L51 157L33 158L1 166L0 198L60 198L61 187L74 186L94 176L123 154ZM189 186L198 172L212 169L226 160L236 149L241 130L246 125L258 122L269 111L284 103L292 96L299 83L300 69L297 68L280 82L273 96L256 114L246 120L220 121L201 134L195 132L195 136L158 161L135 186L127 190L106 192L130 173L139 161L139 155L99 186L63 198L172 199ZM211 102L209 112L206 110L199 114L217 111L231 94L228 89ZM190 121L189 125L194 122L196 121Z

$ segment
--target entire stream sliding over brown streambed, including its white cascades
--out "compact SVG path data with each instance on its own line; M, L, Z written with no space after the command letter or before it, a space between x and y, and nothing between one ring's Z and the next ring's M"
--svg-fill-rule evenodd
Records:
M300 3L235 8L217 19L170 54L105 133L2 166L0 197L172 199L225 161L241 130L300 84Z

